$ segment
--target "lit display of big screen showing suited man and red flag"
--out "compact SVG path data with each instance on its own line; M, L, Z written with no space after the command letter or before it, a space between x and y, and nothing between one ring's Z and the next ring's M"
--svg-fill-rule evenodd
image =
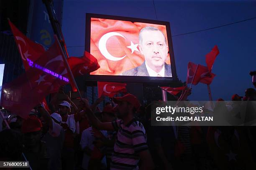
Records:
M90 33L90 75L172 77L165 25L91 18Z

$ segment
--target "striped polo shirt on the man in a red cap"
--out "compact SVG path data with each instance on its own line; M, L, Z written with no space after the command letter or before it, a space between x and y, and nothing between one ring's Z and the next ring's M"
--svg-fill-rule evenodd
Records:
M123 120L115 120L112 125L118 133L110 169L138 170L138 153L148 149L146 131L142 123L134 118L127 125L123 124Z

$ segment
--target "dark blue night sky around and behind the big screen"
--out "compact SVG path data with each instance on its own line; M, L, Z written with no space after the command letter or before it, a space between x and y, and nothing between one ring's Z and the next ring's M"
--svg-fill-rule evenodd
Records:
M256 17L256 1L155 0L157 20L168 21L172 35L203 30ZM84 45L85 13L98 13L156 20L152 0L64 0L62 31L67 46ZM185 81L189 61L205 64L214 45L220 54L210 85L213 100L231 100L253 87L251 70L256 70L256 19L214 30L172 37L177 75ZM69 47L70 56L82 56L84 47ZM207 86L192 86L189 100L209 100Z

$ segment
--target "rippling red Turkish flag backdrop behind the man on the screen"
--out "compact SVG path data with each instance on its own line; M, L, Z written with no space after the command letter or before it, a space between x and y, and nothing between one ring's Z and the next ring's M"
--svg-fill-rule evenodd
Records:
M90 53L96 57L100 68L90 74L120 75L141 65L145 59L139 52L138 35L146 26L158 28L167 40L165 25L92 18ZM170 64L169 58L168 55L167 64Z

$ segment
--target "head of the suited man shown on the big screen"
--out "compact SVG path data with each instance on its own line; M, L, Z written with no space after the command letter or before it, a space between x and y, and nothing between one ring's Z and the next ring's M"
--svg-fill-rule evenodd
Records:
M142 43L139 45L141 53L149 67L164 66L168 55L168 46L165 43L164 35L160 31L145 30L141 32Z

